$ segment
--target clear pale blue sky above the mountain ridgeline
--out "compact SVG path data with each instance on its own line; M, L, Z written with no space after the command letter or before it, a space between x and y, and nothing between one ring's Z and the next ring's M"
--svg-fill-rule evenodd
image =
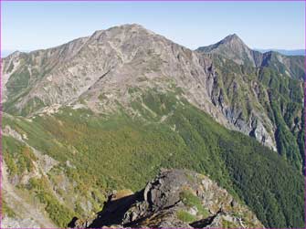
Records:
M137 23L185 47L236 33L249 47L304 47L304 2L3 2L2 50L54 47Z

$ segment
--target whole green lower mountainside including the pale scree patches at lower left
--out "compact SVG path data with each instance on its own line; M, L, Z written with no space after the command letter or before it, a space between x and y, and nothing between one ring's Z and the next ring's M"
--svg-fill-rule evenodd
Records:
M46 222L65 227L73 216L99 212L111 190L140 190L160 168L189 169L248 205L266 227L303 226L303 176L276 152L227 130L179 93L148 90L132 107L145 120L125 109L109 116L69 107L32 118L5 114L6 180ZM22 219L37 217L19 212L22 203L6 194L4 222L25 227Z

